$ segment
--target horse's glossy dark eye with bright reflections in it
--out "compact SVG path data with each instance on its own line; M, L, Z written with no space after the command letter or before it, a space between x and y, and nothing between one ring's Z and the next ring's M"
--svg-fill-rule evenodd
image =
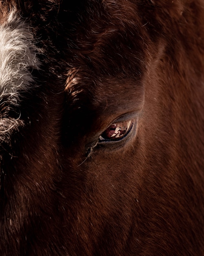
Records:
M118 141L125 138L132 129L133 124L133 120L127 120L110 125L99 137L99 142Z

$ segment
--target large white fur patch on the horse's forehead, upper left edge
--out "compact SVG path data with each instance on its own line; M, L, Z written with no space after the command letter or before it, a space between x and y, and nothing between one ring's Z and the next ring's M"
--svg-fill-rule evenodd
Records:
M19 91L33 82L32 69L39 69L36 48L29 26L13 10L0 25L0 100L19 102Z

